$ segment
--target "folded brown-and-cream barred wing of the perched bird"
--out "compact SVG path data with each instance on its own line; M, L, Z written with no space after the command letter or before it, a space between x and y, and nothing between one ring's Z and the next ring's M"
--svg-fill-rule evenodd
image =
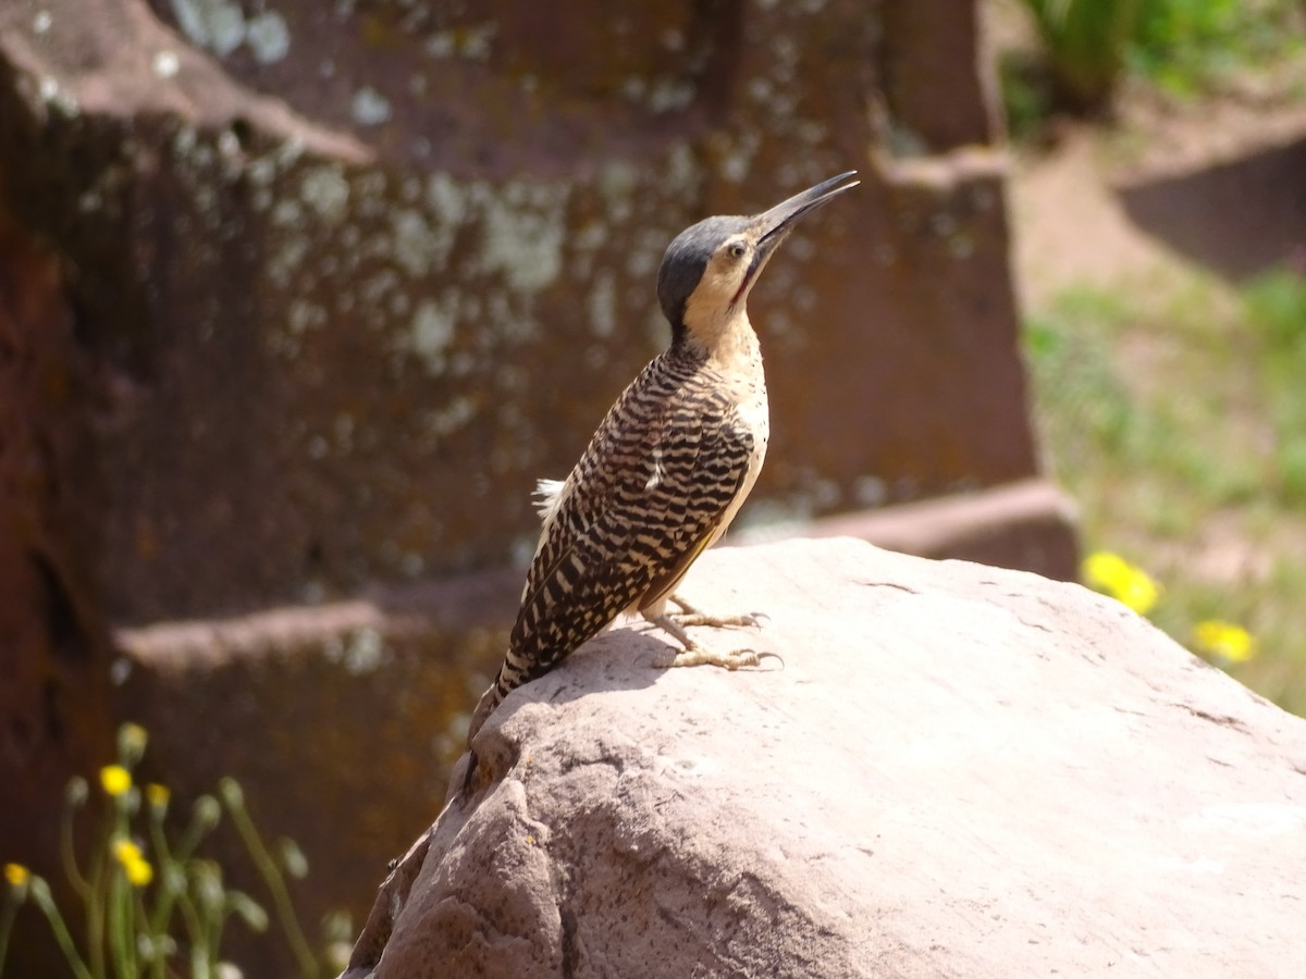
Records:
M673 587L743 484L752 436L725 402L683 390L650 401L614 406L558 497L509 642L522 681Z

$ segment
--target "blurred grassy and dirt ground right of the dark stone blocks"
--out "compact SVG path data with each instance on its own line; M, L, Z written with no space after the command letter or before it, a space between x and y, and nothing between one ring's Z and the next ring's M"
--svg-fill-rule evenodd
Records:
M985 9L1036 424L1128 564L1097 583L1145 574L1140 611L1306 713L1306 5Z

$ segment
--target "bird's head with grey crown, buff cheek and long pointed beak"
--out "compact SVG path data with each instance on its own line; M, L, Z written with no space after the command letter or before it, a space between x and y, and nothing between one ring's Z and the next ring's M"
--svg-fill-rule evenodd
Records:
M673 343L710 346L744 312L748 291L798 218L857 187L857 180L846 183L855 172L824 180L751 218L708 218L677 235L657 274Z

